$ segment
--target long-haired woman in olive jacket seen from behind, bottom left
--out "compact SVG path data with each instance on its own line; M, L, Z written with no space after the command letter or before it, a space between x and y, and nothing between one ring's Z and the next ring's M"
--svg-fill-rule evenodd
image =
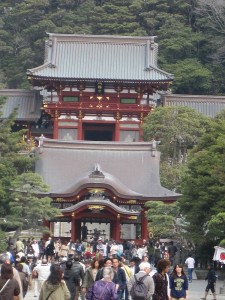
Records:
M70 292L62 278L60 266L53 264L48 279L42 285L39 300L70 300Z

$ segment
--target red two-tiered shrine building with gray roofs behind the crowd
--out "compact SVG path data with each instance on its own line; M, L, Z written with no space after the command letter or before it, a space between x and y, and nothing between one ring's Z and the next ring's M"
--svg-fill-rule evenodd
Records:
M50 186L55 237L148 238L146 201L176 201L160 184L156 142L142 141L144 118L173 76L157 67L154 37L49 33L44 64L28 79L43 96L52 134L39 138L36 172ZM94 228L94 229L90 229Z

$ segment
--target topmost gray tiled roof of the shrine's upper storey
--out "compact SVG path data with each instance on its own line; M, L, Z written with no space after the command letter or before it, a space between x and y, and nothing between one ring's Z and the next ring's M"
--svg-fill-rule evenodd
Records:
M171 81L160 70L153 37L49 34L45 63L34 77L119 81Z

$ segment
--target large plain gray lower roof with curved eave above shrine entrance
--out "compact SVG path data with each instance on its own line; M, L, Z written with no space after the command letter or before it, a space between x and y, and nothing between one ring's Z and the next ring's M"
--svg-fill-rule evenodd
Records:
M151 142L42 139L36 155L36 172L53 196L69 197L81 186L98 185L129 199L176 200L180 196L161 186L160 153Z

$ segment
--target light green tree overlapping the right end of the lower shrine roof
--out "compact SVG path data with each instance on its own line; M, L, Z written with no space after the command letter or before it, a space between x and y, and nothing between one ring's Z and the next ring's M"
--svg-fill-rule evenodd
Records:
M159 141L160 177L167 188L180 191L187 154L210 127L211 119L182 106L157 107L143 125L145 141Z

